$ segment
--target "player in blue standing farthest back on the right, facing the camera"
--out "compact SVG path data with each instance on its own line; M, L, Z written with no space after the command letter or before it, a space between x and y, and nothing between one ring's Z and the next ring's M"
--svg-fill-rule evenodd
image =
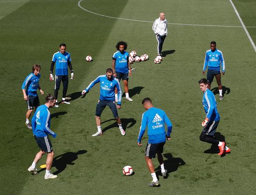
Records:
M208 71L207 71L207 80L209 81L208 88L211 89L211 83L215 76L218 84L218 88L219 88L220 100L223 100L221 75L225 74L225 61L223 58L222 51L216 48L215 41L212 41L210 43L210 48L211 49L207 50L205 53L202 74L203 75L205 74L205 70L208 65ZM221 71L221 64L222 64L222 71Z

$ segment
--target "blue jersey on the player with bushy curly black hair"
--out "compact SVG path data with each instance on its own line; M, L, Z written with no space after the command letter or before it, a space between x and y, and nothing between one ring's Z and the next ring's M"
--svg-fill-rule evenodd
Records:
M119 50L113 54L112 57L115 60L115 71L126 74L129 72L128 62L129 62L129 53L127 51L123 51L121 53Z

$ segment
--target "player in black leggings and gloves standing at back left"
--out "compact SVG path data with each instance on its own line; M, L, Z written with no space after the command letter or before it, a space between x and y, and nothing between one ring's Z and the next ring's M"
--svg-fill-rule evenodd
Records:
M70 102L66 101L67 94L67 86L68 86L68 69L71 72L70 80L74 79L74 70L71 64L70 53L66 52L66 44L60 44L60 51L54 53L52 64L50 68L50 81L54 80L53 71L54 71L54 63L56 63L55 67L55 88L54 88L54 96L56 97L55 107L59 107L58 104L58 91L61 86L61 82L63 83L63 91L62 91L62 100L61 103L70 104Z

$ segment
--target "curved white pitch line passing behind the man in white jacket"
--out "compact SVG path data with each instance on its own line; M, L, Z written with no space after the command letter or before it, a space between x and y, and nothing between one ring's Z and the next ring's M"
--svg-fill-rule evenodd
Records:
M125 18L116 18L116 17L112 17L112 16L106 16L106 15L102 15L99 13L94 13L91 12L85 8L83 8L80 3L82 0L78 1L77 5L84 11L88 12L88 13L92 13L98 16L102 16L102 17L106 17L106 18L113 18L113 19L123 19L123 20L129 20L129 21L135 21L135 22L148 22L148 23L154 23L152 21L145 21L145 20L137 20L137 19L125 19ZM187 25L187 26L214 26L214 27L235 27L235 28L242 28L243 26L224 26L224 25L196 25L196 24L180 24L180 23L168 23L170 25ZM247 26L247 28L256 28L256 26Z

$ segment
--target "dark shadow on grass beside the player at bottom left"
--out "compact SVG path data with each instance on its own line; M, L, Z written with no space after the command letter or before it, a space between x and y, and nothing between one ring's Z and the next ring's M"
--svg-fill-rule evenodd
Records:
M61 154L57 157L54 157L53 161L53 167L55 167L57 170L53 173L54 175L57 175L61 173L63 170L66 169L67 164L74 165L73 161L78 158L78 155L86 153L86 150L80 150L77 152L67 152L64 154Z

